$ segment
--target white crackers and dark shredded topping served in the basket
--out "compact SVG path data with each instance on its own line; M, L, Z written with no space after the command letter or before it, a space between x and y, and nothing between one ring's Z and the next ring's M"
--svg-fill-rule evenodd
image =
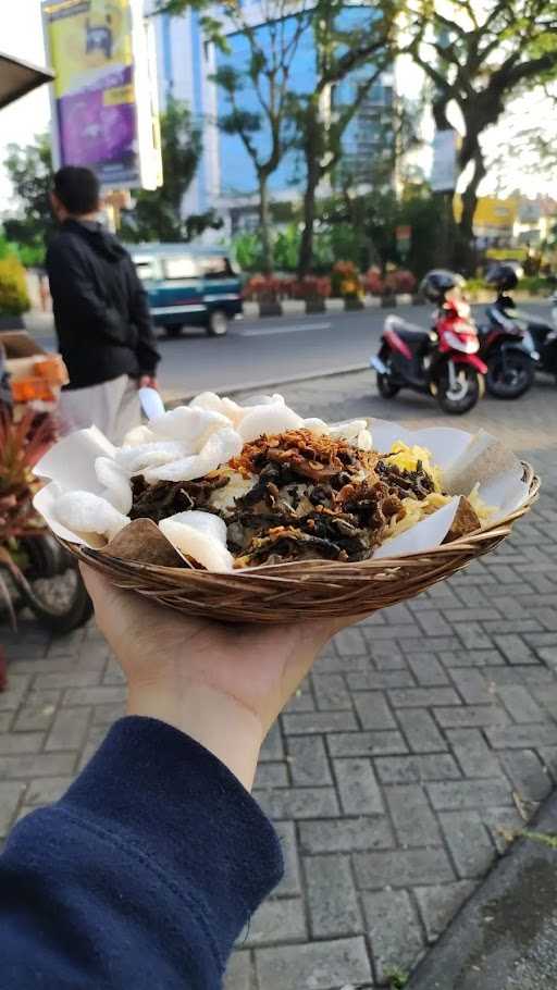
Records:
M149 519L193 567L360 561L451 502L426 448L373 449L366 420L302 419L278 396L239 406L212 393L133 430L95 459L97 491L61 492L58 522L106 544ZM491 510L461 497L448 539Z

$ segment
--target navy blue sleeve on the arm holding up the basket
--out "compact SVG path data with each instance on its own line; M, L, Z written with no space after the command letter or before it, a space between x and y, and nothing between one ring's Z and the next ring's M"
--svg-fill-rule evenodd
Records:
M276 834L211 753L117 721L0 857L0 988L215 990L280 880Z

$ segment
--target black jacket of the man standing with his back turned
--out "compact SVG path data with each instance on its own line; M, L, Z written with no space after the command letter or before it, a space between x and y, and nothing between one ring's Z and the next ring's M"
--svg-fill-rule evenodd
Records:
M49 244L47 271L70 388L154 374L147 294L112 234L99 223L66 220Z

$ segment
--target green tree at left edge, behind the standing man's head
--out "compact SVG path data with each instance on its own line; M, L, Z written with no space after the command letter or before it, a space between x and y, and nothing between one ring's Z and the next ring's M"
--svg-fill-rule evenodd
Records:
M18 246L25 264L41 264L45 239L53 226L49 200L52 157L48 134L38 135L34 145L9 145L3 164L13 187L13 215L3 222L5 237Z

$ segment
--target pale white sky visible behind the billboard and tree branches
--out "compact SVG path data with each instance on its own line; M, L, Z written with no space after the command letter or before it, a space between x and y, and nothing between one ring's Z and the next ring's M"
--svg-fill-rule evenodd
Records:
M14 8L16 15L14 15ZM42 27L40 16L40 0L0 0L0 49L7 54L13 54L28 62L44 65L46 62ZM410 86L409 96L416 94L416 77L412 72L403 73ZM10 208L11 186L1 165L5 158L7 146L10 143L20 145L33 144L36 134L46 131L50 120L49 87L42 86L35 92L17 100L11 107L0 111L0 213ZM540 100L525 98L516 101L513 112L504 115L502 122L491 128L486 136L486 151L488 158L495 153L499 144L508 141L509 124L520 127L525 124L532 126L536 122L543 127L553 116L553 108L547 108ZM423 153L425 169L431 161L428 151ZM520 163L511 159L498 173L493 170L484 182L481 193L494 193L496 188L504 194L513 188L520 188L528 196L545 193L557 196L556 182L550 178L541 178L524 173Z

